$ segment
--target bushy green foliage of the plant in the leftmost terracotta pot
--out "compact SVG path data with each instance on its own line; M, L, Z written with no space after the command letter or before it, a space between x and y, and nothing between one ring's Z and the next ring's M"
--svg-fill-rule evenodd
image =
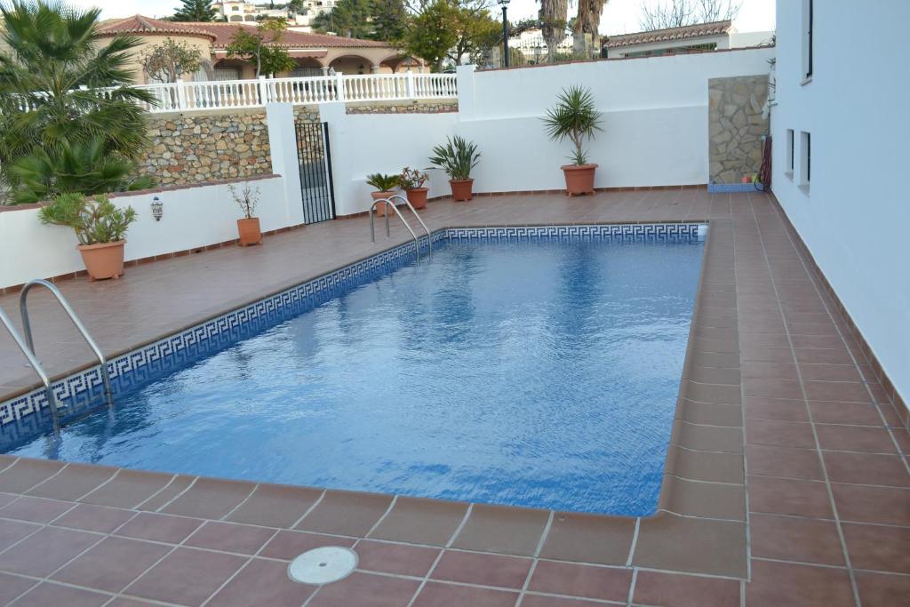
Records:
M136 210L115 207L104 196L61 194L47 207L41 207L38 219L44 224L73 228L80 245L97 245L123 240L126 229L136 221Z

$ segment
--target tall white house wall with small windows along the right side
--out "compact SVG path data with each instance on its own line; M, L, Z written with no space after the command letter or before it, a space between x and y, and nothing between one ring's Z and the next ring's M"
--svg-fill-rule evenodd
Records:
M905 401L910 400L910 2L814 2L814 74L802 84L802 1L777 0L773 192ZM864 40L855 53L844 40ZM796 171L786 175L786 129ZM812 180L798 186L799 133Z

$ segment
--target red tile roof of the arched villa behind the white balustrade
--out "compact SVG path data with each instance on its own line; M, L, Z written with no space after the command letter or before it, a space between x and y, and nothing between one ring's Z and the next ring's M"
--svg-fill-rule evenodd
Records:
M224 48L239 28L249 31L256 29L256 25L239 23L201 23L201 22L176 22L161 21L143 15L133 15L126 19L118 19L99 27L102 35L132 34L132 35L202 35L212 40L215 48ZM266 39L271 38L270 34ZM281 37L280 46L284 48L362 48L372 46L376 48L389 47L385 42L377 40L360 40L359 38L345 38L338 35L304 34L303 32L286 31Z

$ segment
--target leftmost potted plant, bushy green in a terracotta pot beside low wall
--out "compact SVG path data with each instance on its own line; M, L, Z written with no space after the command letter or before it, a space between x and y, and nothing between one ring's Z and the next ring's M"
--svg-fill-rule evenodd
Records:
M123 275L123 237L126 228L136 221L133 207L115 207L105 196L61 194L50 205L41 207L38 218L44 224L73 228L79 241L76 248L90 280Z

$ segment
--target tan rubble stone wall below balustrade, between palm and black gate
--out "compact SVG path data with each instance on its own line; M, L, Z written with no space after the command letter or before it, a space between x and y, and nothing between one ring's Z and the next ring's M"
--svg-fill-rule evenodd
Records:
M319 110L298 106L298 121L319 121ZM252 177L272 172L264 110L226 110L151 116L151 143L138 162L139 175L157 186Z

